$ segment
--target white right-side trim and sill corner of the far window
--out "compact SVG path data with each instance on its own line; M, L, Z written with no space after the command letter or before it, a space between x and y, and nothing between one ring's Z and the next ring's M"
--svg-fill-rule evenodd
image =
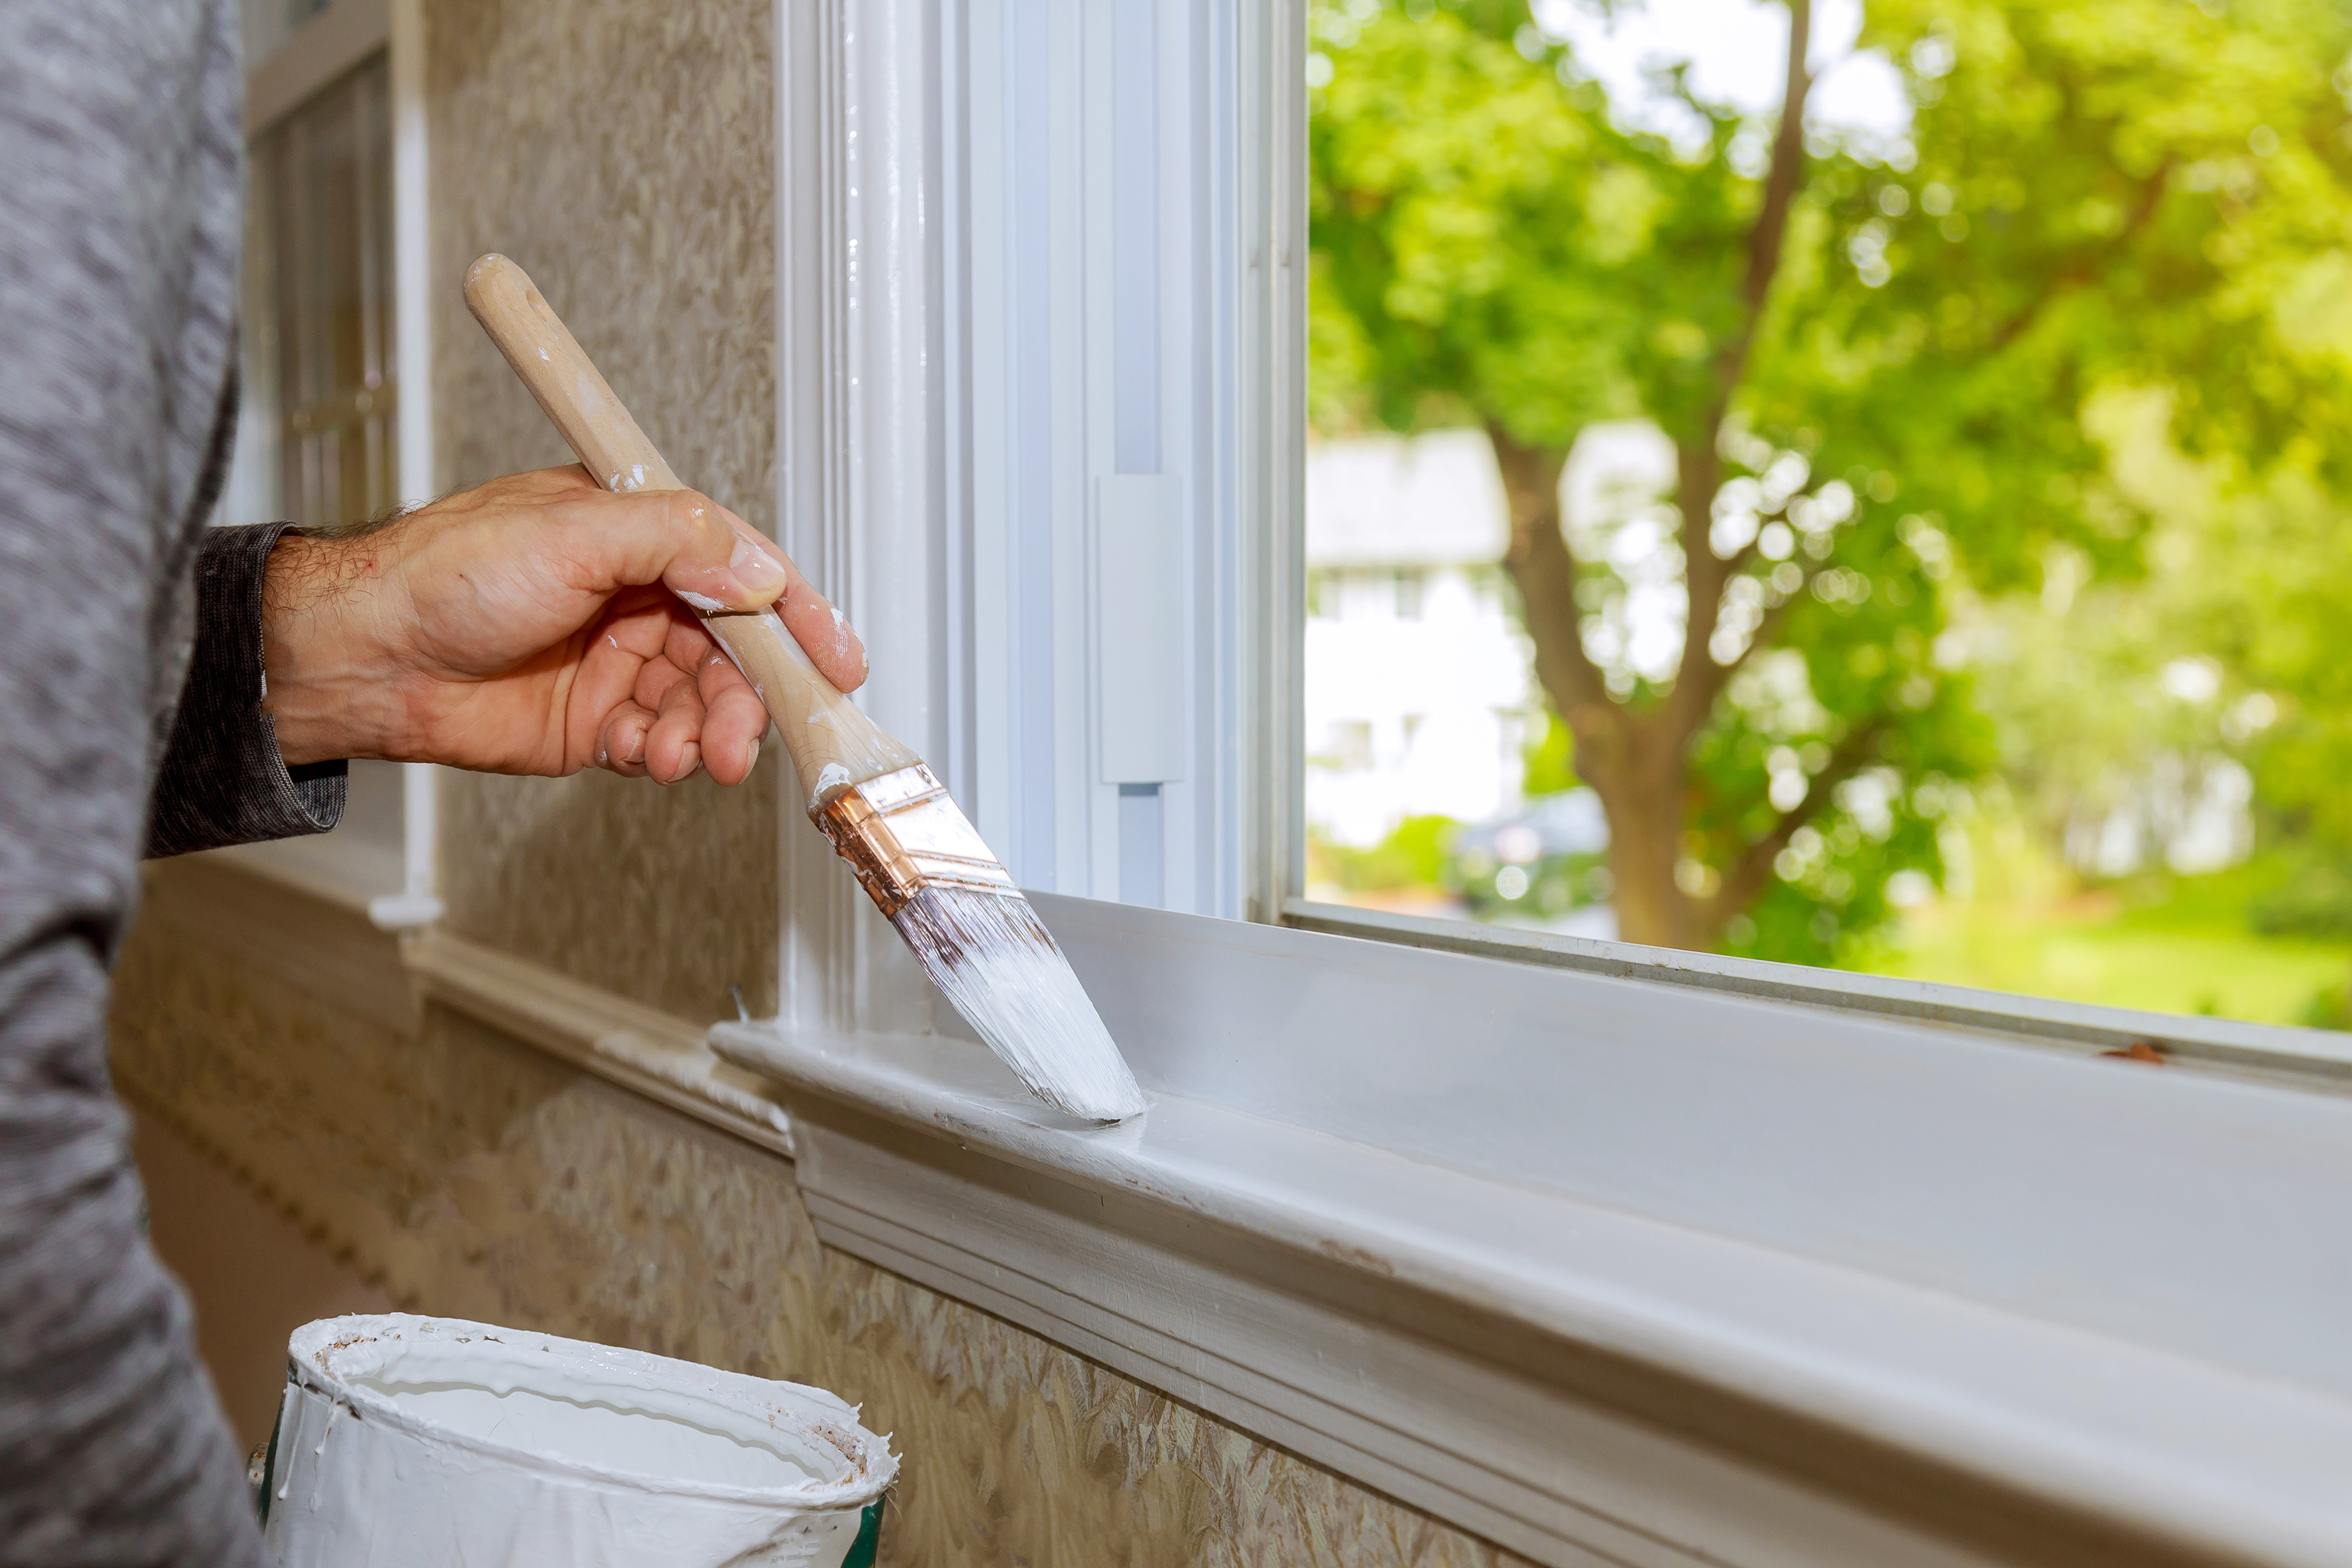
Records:
M428 501L435 489L433 461L433 277L426 150L426 40L423 0L334 0L306 19L245 71L245 136L266 134L313 94L379 49L390 63L393 108L393 364L400 383L402 501ZM240 449L245 442L240 440ZM240 451L242 456L242 451ZM228 522L263 522L228 517ZM381 849L334 832L249 844L223 851L268 863L278 875L318 891L367 896L369 919L383 931L430 926L442 917L435 891L435 788L433 766L400 769L400 851L386 863ZM397 891L379 891L386 884Z

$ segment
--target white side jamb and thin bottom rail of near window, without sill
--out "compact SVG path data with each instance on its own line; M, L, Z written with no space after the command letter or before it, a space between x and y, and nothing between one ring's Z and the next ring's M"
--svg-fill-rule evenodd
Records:
M1936 983L1896 983L1785 964L1679 954L1630 943L1531 938L1468 922L1411 922L1308 905L1303 893L1303 639L1305 639L1305 9L1301 0L1141 0L1068 7L1051 0L844 0L790 7L779 52L779 480L783 541L856 616L875 658L861 693L870 712L941 769L983 837L1028 886L1122 896L1117 785L1089 778L1096 632L1089 571L1091 487L1117 473L1122 364L1120 249L1110 235L1117 141L1110 85L1136 47L1122 16L1150 16L1162 49L1157 101L1181 103L1157 127L1162 252L1185 221L1197 233L1183 268L1195 280L1190 334L1214 355L1162 355L1160 407L1228 400L1188 416L1204 456L1183 473L1195 508L1188 635L1192 755L1216 792L1195 790L1188 832L1214 875L1167 877L1169 907L1296 924L1371 940L1435 945L1512 961L1571 964L1670 985L1731 987L1802 1006L1924 1018L2063 1048L2154 1041L2176 1060L2227 1072L2336 1081L2338 1037L2317 1030L2131 1013L2006 997ZM856 26L851 26L856 19ZM1009 61L1009 54L1028 52ZM1025 63L1023 63L1025 61ZM1035 80L1021 75L1035 71ZM1200 78L1195 87L1181 80ZM1018 169L1023 141L1011 92L1035 92L1042 169ZM915 118L851 143L854 113L882 127L898 106ZM882 113L887 108L887 113ZM1091 115L1091 118L1089 118ZM1174 129L1171 129L1174 127ZM1030 127L1035 129L1035 127ZM1134 127L1129 127L1134 129ZM1178 136L1200 143L1169 153ZM1075 153L1101 143L1089 172ZM1061 162L1054 162L1054 160ZM1134 167L1134 160L1129 160ZM1018 179L1016 179L1018 176ZM1018 181L1028 179L1023 195ZM1091 181L1091 183L1089 183ZM1207 188L1207 195L1200 190ZM891 193L882 202L877 193ZM1089 216L1091 214L1091 216ZM1023 228L1028 240L1011 233ZM1033 249L1021 244L1035 242ZM856 266L851 266L856 259ZM1047 315L1023 315L1016 263L1044 273ZM1033 280L1035 282L1035 280ZM1033 289L1035 294L1035 289ZM1209 306L1200 306L1207 299ZM1094 310L1094 315L1089 315ZM1016 343L1028 334L1040 362ZM903 346L924 346L910 355ZM1221 355L1221 357L1218 357ZM1134 369L1134 367L1129 367ZM1014 473L1035 435L1035 409L1014 404L1021 376L1042 376L1044 480ZM1134 381L1129 376L1127 381ZM1171 390L1174 388L1174 390ZM1023 425L1023 418L1033 418ZM1061 421L1061 423L1054 423ZM1164 451L1174 451L1162 425ZM1037 541L1054 578L1025 602L1007 583L1023 567L1014 512L1054 510ZM1223 520L1225 534L1211 522ZM1225 555L1218 555L1218 552ZM1207 562L1207 564L1204 564ZM917 571L901 567L920 564ZM1033 562L1035 564L1035 562ZM1207 592L1204 592L1207 585ZM1018 689L1037 675L1016 646L1018 614L1056 618L1049 741L1025 741ZM1207 646L1207 651L1200 644ZM1075 654L1070 654L1075 649ZM1028 715L1035 717L1035 715ZM1075 736L1075 738L1073 738ZM1023 788L1049 776L1054 823L1021 825ZM1171 785L1164 806L1174 813ZM1044 837L1047 842L1040 842ZM887 929L858 910L821 839L786 823L788 931L781 954L788 1009L840 1030L934 1027L901 997L910 971ZM1169 832L1169 844L1176 835ZM1169 865L1176 856L1169 856ZM1127 889L1134 891L1131 886ZM844 936L844 933L856 936ZM960 1032L950 1018L943 1025Z

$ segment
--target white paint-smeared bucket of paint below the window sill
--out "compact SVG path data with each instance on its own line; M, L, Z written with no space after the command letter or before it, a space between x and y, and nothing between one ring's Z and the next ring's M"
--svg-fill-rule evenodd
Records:
M336 1316L287 1345L259 1507L285 1568L856 1568L896 1472L823 1389L459 1319Z

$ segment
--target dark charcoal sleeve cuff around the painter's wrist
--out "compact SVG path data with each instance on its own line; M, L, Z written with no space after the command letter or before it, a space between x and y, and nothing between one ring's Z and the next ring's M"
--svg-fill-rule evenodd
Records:
M148 858L327 832L346 766L287 769L261 710L261 578L292 524L207 529L195 557L195 658L155 778Z

